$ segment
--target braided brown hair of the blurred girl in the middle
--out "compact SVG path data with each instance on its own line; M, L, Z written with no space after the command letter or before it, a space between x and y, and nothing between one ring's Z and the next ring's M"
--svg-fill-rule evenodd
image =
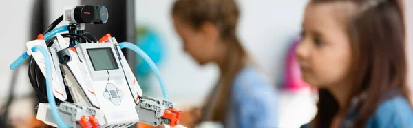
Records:
M177 0L172 7L173 17L184 21L192 28L199 29L202 23L213 23L220 30L220 38L224 41L227 52L224 67L221 69L220 80L217 84L219 92L216 100L211 96L207 100L215 102L212 105L212 120L225 122L226 109L229 103L231 84L237 72L246 64L247 54L236 36L239 10L235 0Z

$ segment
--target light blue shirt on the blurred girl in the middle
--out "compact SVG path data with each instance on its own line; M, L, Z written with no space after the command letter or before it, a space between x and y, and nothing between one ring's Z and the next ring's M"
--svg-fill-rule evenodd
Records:
M233 81L225 127L277 127L275 86L254 67L244 67Z

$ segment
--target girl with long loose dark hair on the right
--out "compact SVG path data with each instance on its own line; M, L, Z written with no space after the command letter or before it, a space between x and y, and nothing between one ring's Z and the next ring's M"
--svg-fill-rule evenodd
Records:
M401 1L311 0L296 52L318 111L302 127L413 127Z

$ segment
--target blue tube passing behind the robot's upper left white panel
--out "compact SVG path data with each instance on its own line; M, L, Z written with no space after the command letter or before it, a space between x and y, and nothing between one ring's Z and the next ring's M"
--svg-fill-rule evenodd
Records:
M63 25L63 26L61 26L61 27L59 27L59 28L55 28L54 30L52 30L52 31L50 31L50 32L47 32L47 33L44 34L43 36L45 37L45 40L48 40L48 39L52 38L54 35L56 35L56 34L58 34L58 33L67 31L67 30L68 30L68 27L69 27L68 25ZM19 65L21 65L21 63L23 63L24 60L25 60L26 58L28 58L28 57L29 57L28 52L27 52L27 51L26 51L26 52L23 52L23 54L21 54L21 55L19 56L19 58L17 58L15 61L13 61L13 63L9 66L10 70L14 70L14 69L16 69L17 67L19 67Z

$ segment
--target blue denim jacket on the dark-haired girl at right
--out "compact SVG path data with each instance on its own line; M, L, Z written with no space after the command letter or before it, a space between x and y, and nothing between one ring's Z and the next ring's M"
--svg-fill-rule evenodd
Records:
M384 96L376 111L366 122L366 128L413 128L413 110L407 99L399 94L399 90L393 90ZM350 128L357 118L360 105L352 106L348 110L339 128ZM303 125L301 128L310 128Z

